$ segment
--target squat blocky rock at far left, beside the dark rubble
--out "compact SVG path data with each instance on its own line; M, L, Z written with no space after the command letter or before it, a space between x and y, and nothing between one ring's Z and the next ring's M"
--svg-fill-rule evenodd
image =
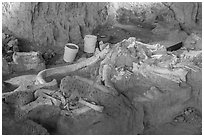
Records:
M45 69L45 63L39 52L15 52L13 54L14 71L23 72L34 70L39 72Z

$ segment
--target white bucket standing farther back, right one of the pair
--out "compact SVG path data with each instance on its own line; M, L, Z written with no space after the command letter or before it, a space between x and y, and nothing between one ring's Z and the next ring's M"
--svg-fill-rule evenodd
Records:
M84 52L94 53L97 42L97 36L86 35L84 38Z

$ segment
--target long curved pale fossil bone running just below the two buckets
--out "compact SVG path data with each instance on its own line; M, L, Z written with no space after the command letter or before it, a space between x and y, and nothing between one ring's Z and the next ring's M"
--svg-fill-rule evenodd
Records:
M56 75L56 74L67 74L73 71L76 71L80 68L92 65L99 61L100 59L105 58L106 54L109 52L110 48L109 46L106 46L100 53L92 56L91 58L86 59L85 61L78 62L72 65L67 65L67 66L62 66L62 67L56 67L56 68L50 68L50 69L45 69L41 72L38 73L36 77L36 82L40 84L45 84L47 83L45 81L46 77Z

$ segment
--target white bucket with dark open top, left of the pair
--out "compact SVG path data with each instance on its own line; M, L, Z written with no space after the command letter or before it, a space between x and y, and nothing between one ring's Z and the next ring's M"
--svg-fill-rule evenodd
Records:
M79 47L76 44L67 43L64 47L64 61L73 62L78 51Z

